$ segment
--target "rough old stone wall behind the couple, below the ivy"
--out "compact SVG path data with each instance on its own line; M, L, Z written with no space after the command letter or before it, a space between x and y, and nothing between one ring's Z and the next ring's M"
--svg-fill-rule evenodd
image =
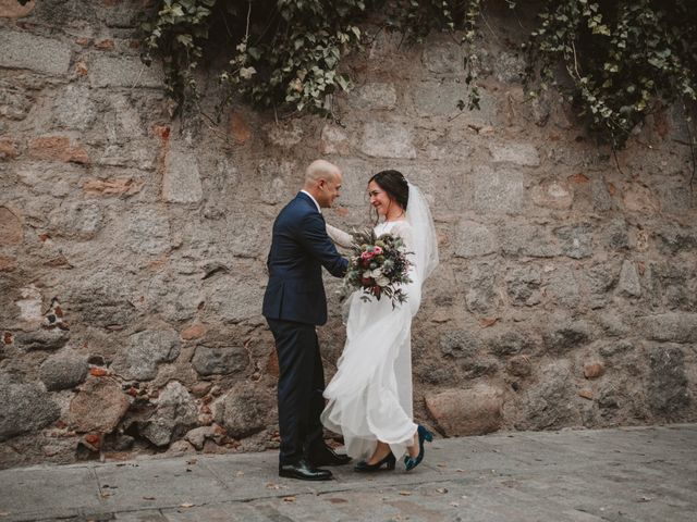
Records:
M278 445L260 302L271 224L315 158L430 198L441 265L413 332L416 418L442 435L697 420L697 225L684 121L616 162L557 95L526 100L518 22L488 15L481 110L463 50L379 33L341 124L235 103L171 120L138 60L143 2L0 0L0 463ZM368 27L368 29L370 29ZM212 113L213 72L201 74ZM616 164L615 164L616 163ZM328 376L344 333L327 277Z

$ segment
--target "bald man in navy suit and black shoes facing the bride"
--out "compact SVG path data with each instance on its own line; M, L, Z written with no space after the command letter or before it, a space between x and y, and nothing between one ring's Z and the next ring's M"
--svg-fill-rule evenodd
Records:
M328 481L331 472L317 467L351 460L322 439L325 375L315 332L327 322L321 268L342 277L348 264L327 236L321 214L339 197L341 182L341 171L328 161L307 167L303 190L273 223L267 261L262 313L279 357L279 475L305 481Z

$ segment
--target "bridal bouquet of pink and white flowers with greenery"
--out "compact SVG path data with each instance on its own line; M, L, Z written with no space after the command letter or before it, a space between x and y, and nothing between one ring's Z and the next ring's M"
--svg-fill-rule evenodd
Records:
M392 300L392 308L406 302L406 294L399 285L411 283L408 277L409 261L404 241L399 236L375 235L372 228L354 232L352 256L348 258L348 270L344 276L344 290L363 290L360 299L369 301L370 296L380 300L386 296Z

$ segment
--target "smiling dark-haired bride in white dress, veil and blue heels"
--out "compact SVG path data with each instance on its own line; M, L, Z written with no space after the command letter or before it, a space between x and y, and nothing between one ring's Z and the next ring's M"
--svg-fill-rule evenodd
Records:
M348 299L346 344L338 371L325 389L329 399L321 420L344 436L346 453L362 459L356 471L393 470L404 455L409 471L424 458L432 435L414 423L412 408L412 318L418 311L424 281L438 265L436 231L421 191L398 171L382 171L368 182L377 211L375 233L403 238L412 266L408 298L394 309L389 299ZM327 225L334 243L350 248L348 234Z

